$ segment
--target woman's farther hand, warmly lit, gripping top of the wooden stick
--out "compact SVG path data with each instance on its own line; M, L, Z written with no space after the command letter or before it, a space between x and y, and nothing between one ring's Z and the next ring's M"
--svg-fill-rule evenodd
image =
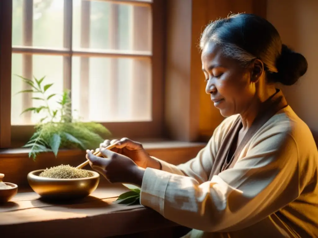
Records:
M127 156L132 159L139 167L146 169L147 167L160 169L161 165L158 161L151 158L145 149L143 149L142 144L139 142L132 141L128 138L122 138L121 140L106 140L100 144L100 148L105 148L110 144L115 144L116 146L111 149L111 151ZM96 149L96 151L99 149Z

